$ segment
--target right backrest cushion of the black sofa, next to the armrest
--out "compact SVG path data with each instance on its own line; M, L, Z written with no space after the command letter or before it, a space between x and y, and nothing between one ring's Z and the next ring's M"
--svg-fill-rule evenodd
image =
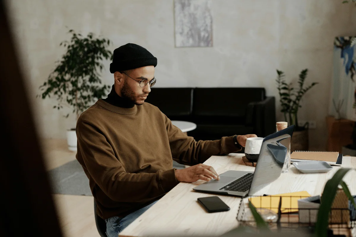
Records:
M263 101L265 88L195 88L195 116L227 116L243 119L247 105Z

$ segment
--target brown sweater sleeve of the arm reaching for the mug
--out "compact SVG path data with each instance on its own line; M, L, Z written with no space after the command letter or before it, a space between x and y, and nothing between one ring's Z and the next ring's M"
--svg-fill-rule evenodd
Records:
M173 160L184 165L197 165L208 160L210 156L240 151L234 144L234 136L224 136L215 141L195 141L174 126L166 115L166 128Z

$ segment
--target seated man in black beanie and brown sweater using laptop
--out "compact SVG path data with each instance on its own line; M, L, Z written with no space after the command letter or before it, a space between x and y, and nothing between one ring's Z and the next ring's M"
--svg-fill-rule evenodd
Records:
M114 85L77 122L77 160L89 178L106 233L117 236L179 182L219 179L203 165L212 155L239 151L254 134L195 141L166 115L145 103L156 83L157 58L126 44L114 50ZM162 98L164 99L164 98ZM169 103L169 101L167 101ZM174 169L173 160L192 165Z

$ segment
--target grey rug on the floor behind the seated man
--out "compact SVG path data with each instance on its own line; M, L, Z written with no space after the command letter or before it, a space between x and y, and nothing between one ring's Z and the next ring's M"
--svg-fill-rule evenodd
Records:
M173 161L173 167L185 168L184 165L175 161ZM48 177L52 183L52 193L92 196L89 179L77 160L48 171Z

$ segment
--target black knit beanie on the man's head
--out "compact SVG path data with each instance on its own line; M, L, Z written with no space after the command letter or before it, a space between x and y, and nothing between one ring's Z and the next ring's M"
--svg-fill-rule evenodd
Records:
M144 66L157 66L157 58L140 45L128 43L114 50L110 72L115 73Z

